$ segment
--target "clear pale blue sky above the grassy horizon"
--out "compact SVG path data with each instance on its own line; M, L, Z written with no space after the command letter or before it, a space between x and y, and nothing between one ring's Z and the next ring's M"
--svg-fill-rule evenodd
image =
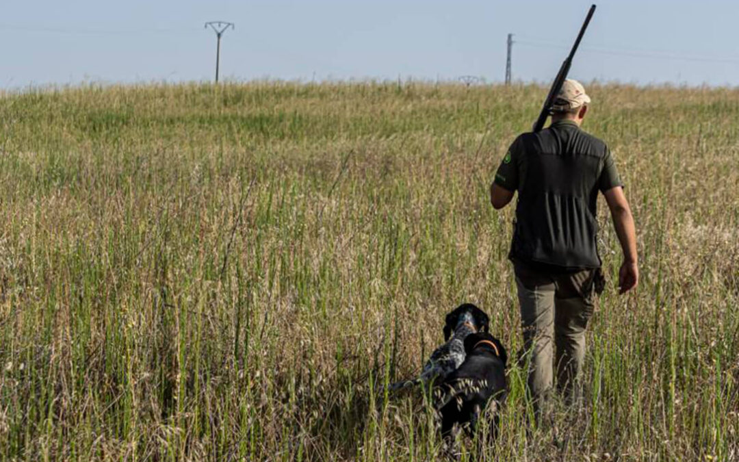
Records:
M213 78L550 81L591 1L4 1L0 87ZM739 84L739 1L604 0L571 76Z

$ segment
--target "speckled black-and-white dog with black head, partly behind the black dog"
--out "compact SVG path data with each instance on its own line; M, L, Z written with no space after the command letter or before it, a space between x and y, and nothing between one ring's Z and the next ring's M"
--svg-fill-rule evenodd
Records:
M490 318L477 306L463 303L446 315L444 344L431 353L420 375L413 380L390 385L390 391L401 390L418 384L440 383L457 370L465 359L464 339L471 333L488 332Z

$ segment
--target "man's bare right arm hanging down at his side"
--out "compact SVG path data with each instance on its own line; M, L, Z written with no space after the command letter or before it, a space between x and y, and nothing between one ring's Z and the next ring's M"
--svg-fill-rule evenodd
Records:
M610 208L613 226L621 242L621 251L624 253L624 262L619 271L619 293L630 291L638 285L638 256L636 254L636 225L631 214L631 208L621 186L605 191L605 200Z

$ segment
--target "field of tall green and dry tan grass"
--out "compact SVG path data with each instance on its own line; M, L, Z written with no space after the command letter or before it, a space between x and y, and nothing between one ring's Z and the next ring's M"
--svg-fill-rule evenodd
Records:
M739 90L589 86L638 227L586 403L496 461L739 458ZM0 98L0 459L428 461L416 373L474 302L512 355L512 210L488 185L546 89L86 86ZM473 451L473 445L467 444ZM473 451L474 452L474 451ZM471 459L474 454L465 454Z

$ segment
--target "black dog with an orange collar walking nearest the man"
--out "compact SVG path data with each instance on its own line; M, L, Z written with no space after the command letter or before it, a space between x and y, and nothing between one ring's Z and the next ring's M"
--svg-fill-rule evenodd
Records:
M464 427L474 435L480 415L488 401L494 401L491 436L497 432L500 417L497 408L503 404L508 385L505 381L505 364L508 354L500 340L489 333L474 333L464 341L466 359L457 370L450 373L434 393L435 408L441 418L441 435L445 441L454 439L458 429Z

